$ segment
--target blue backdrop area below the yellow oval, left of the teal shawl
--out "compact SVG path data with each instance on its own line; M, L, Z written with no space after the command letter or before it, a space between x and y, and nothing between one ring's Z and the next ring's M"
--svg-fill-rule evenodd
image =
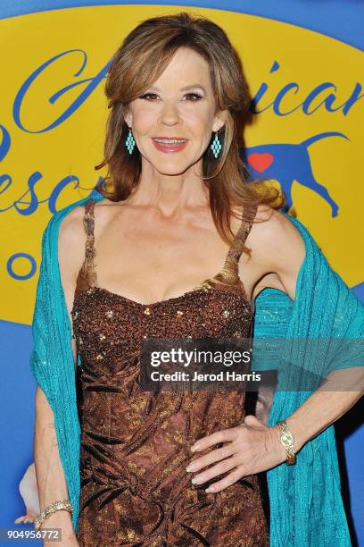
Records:
M34 394L37 383L29 368L31 329L28 325L0 321L0 340L0 362L2 370L6 370L0 383L0 528L30 531L33 530L32 524L14 524L14 518L25 515L25 503L30 506L34 499L31 481L24 481L20 491L21 480L34 459ZM0 545L12 543L0 542ZM42 542L18 540L15 544L36 547Z

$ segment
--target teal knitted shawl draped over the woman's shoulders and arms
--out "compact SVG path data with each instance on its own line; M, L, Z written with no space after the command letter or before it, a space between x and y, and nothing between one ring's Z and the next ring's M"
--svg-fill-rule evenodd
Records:
M103 199L96 191L91 197ZM71 325L62 290L57 242L63 218L88 198L90 196L55 213L43 233L30 358L31 370L54 411L60 458L74 508L75 532L79 518L80 426ZM364 307L328 265L306 227L291 215L286 217L301 232L306 247L295 299L292 301L280 290L262 290L255 301L254 340L264 337L362 338ZM304 361L304 355L302 359ZM323 352L317 360L321 367L316 371L318 374L330 371L328 361ZM302 366L311 370L314 365L308 359ZM289 368L284 374L289 376ZM269 425L289 417L309 396L310 391L277 390ZM341 496L334 425L303 446L294 466L280 464L268 471L267 479L270 545L351 545Z

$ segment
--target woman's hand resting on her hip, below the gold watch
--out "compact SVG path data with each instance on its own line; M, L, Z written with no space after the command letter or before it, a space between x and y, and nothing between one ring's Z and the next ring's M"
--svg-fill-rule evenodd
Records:
M280 442L277 427L264 425L252 415L246 416L242 425L223 429L199 439L191 450L195 453L219 442L224 442L224 446L194 459L186 467L186 471L196 472L219 462L195 475L192 479L193 484L203 484L214 476L230 471L227 476L211 484L206 492L220 492L243 476L276 467L286 459L285 447Z

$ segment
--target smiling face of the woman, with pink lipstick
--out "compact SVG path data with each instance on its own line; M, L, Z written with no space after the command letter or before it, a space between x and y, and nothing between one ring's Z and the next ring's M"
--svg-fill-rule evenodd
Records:
M184 173L202 158L212 131L223 125L215 115L208 63L180 47L153 86L129 104L125 120L143 161L159 173Z

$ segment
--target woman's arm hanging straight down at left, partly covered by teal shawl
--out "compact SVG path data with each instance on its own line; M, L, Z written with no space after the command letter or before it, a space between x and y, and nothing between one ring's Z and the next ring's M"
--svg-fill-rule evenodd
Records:
M83 208L75 207L63 219L59 231L58 260L69 316L76 288L76 274L84 258L86 236L82 219ZM71 339L71 345L74 362L76 363L77 349L73 338ZM45 509L53 501L69 499L58 450L54 412L40 386L37 387L36 392L34 459L40 510ZM61 545L65 544L72 547L78 545L69 511L63 509L55 511L49 518L45 519L40 529L49 527L62 528Z

